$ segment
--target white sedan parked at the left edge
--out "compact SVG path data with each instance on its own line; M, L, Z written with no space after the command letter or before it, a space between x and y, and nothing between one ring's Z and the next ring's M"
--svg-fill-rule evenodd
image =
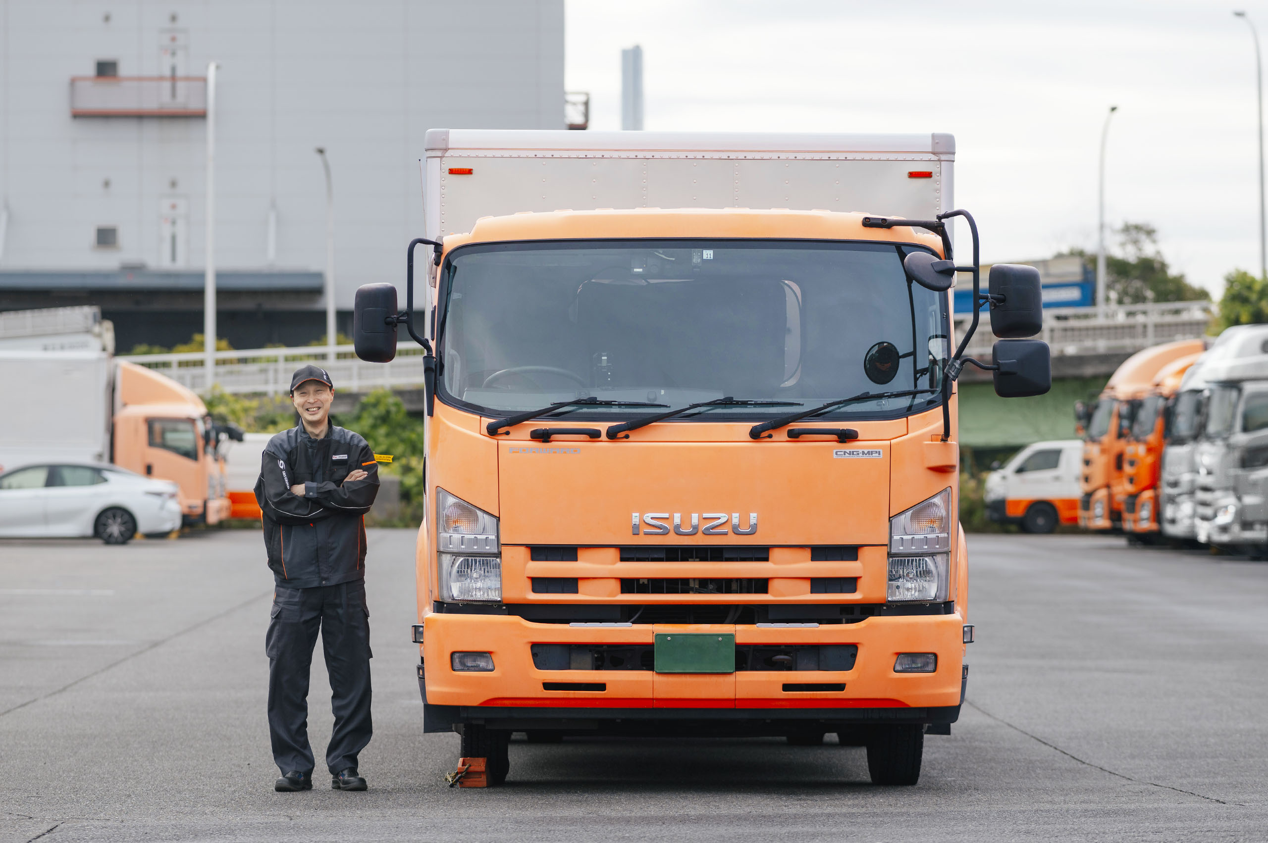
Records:
M0 536L95 536L126 544L180 526L179 489L118 465L51 463L0 474Z

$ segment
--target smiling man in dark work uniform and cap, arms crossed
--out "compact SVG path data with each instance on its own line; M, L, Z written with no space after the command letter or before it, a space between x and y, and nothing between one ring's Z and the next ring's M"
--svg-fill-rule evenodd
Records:
M370 742L370 622L364 515L379 491L374 453L330 423L335 385L325 369L290 379L301 423L269 440L255 498L276 589L265 638L269 733L281 772L274 790L312 790L308 677L321 630L335 730L326 767L335 790L365 790L356 757Z

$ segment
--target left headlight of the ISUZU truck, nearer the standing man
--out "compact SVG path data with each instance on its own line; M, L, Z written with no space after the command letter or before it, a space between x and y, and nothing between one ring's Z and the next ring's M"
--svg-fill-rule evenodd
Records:
M497 518L436 489L436 573L443 601L502 600Z

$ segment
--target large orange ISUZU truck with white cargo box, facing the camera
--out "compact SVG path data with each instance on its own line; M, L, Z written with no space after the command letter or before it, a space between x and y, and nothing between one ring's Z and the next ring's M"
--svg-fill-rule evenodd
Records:
M512 731L836 733L874 782L917 781L973 633L954 387L973 330L951 335L947 221L1007 337L976 365L1002 396L1051 376L1021 338L1037 273L997 265L979 289L954 151L427 133L408 304L363 286L354 335L365 360L401 327L426 350L424 729L460 733L488 783ZM857 212L877 208L903 217Z

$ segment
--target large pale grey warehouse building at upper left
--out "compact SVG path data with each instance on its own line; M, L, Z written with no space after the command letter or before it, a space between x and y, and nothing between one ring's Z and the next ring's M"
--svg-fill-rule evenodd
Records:
M205 76L219 333L325 332L403 284L435 127L563 128L563 0L0 0L0 309L99 304L120 351L202 332Z

